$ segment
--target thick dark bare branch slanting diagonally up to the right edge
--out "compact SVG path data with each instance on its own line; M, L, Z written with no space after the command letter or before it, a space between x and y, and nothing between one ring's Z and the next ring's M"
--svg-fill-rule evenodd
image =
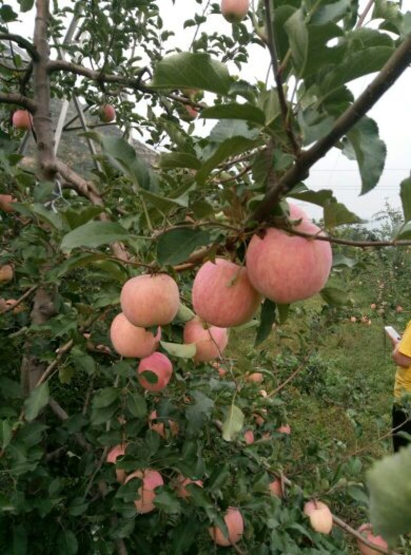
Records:
M311 148L302 152L295 164L261 201L260 206L251 215L252 221L264 221L270 218L274 206L281 196L286 195L293 186L306 179L309 169L327 154L339 139L343 137L373 107L382 95L395 83L411 63L411 34L395 50L377 77L359 95L357 100L337 119L331 131L319 139Z

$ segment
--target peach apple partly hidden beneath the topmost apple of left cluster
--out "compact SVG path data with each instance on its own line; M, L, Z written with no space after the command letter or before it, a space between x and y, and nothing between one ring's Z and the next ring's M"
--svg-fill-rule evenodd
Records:
M144 327L137 327L130 324L123 312L118 314L110 327L110 340L114 349L119 355L125 357L144 357L153 354L157 349L161 339L161 328L157 330L157 335L147 331Z

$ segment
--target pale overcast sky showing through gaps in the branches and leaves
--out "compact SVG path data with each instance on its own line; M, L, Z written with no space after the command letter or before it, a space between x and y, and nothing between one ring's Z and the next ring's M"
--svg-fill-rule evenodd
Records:
M17 4L17 2L11 2ZM64 4L64 2L61 2ZM364 5L364 0L360 5ZM202 1L202 6L187 0L176 0L172 6L171 0L161 0L161 17L164 27L175 32L175 37L171 39L172 46L178 46L182 50L189 48L195 28L183 28L185 19L192 17L195 13L202 13L202 9L207 2ZM404 11L411 11L411 0L404 0ZM32 37L33 31L33 12L24 14L22 21L11 26L11 30L22 34L25 37ZM210 16L207 23L203 24L200 32L230 33L230 24L226 23L221 16ZM250 63L243 66L241 77L255 82L256 80L265 81L269 64L268 53L256 45L250 46ZM238 73L234 64L229 65L230 73ZM349 86L357 95L364 90L373 76L358 79ZM270 74L270 82L272 77ZM372 215L383 208L384 200L400 207L399 183L409 176L411 170L411 102L409 91L411 90L411 70L406 70L397 83L384 95L382 99L369 112L369 116L376 120L380 138L387 145L387 160L383 175L377 187L367 195L359 196L361 190L361 179L359 176L356 162L349 161L339 150L332 149L328 155L320 160L311 170L311 175L306 181L312 189L332 189L338 201L357 215L364 219L371 219ZM145 115L143 113L143 115ZM199 134L207 133L207 127L199 121L196 123ZM309 214L319 218L322 209L313 205L307 205Z

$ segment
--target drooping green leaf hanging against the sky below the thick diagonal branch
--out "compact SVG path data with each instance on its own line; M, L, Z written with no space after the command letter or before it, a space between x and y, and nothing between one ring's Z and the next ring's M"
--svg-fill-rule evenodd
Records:
M363 117L347 133L343 153L357 160L362 180L361 194L371 191L379 181L387 156L387 147L379 138L378 126L373 119Z

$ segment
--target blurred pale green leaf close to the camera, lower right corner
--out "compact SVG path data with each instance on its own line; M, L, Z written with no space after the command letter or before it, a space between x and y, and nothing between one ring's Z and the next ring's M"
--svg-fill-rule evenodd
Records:
M389 543L411 529L411 446L374 463L367 472L374 533Z

